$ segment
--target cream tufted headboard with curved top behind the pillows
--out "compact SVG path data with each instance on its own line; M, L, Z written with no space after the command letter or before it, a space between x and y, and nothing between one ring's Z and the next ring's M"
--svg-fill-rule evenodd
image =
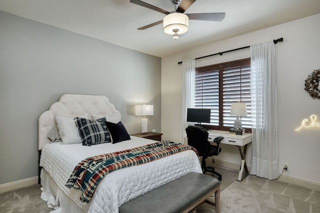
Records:
M56 126L53 115L76 117L85 113L94 115L115 116L121 120L117 111L109 99L101 95L75 95L64 94L58 102L53 103L48 111L43 112L38 119L38 150L50 142L47 137L52 127Z

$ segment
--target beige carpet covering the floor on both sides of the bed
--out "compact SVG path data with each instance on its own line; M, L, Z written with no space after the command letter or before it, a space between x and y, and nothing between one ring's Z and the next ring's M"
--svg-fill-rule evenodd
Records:
M255 176L237 182L236 171L216 171L222 174L221 213L320 213L320 192ZM40 194L39 185L2 193L0 213L49 213ZM204 204L197 213L215 211Z

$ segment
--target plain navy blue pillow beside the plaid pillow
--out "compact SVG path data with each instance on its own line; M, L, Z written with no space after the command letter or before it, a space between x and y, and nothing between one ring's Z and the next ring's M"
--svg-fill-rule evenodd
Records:
M117 124L108 121L105 121L104 123L111 135L112 144L131 139L121 121L119 121Z

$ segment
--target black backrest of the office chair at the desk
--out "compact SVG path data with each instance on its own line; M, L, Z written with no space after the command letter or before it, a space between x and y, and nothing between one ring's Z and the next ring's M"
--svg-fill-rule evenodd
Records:
M207 155L210 151L208 132L201 126L188 126L185 129L188 145L194 147L200 156Z

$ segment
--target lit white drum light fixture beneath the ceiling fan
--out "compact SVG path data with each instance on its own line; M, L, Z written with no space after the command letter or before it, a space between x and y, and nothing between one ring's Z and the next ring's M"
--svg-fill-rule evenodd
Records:
M173 12L170 14L167 14L163 18L163 31L164 33L168 35L177 35L177 38L179 37L179 34L183 34L188 31L189 26L189 18L186 14L179 13L179 12ZM173 36L173 38L176 40Z

